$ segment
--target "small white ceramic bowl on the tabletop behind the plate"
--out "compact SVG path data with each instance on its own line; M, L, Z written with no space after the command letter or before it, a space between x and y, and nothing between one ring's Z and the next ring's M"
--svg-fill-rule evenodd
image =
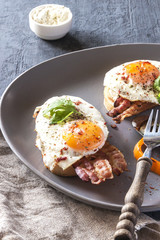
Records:
M48 7L51 5L56 5L56 6L61 6L57 4L45 4L45 5L40 5L36 8L33 8L30 13L29 13L29 26L30 29L40 38L45 39L45 40L56 40L59 38L64 37L71 29L72 25L72 12L70 11L69 8L68 10L68 18L63 21L58 23L57 25L48 25L46 23L38 23L33 19L33 14L35 11L40 8L40 7Z

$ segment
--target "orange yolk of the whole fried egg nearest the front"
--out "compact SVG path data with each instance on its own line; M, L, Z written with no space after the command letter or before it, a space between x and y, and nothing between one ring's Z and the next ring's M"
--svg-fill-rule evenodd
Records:
M78 152L97 149L104 142L102 129L93 122L78 120L63 133L66 144Z

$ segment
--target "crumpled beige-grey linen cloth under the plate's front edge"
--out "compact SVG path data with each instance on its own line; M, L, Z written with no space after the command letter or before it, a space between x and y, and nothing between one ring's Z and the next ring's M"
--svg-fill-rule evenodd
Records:
M51 188L14 155L1 133L0 158L0 239L113 239L120 212L86 205ZM159 228L141 214L136 233L139 239L156 240Z

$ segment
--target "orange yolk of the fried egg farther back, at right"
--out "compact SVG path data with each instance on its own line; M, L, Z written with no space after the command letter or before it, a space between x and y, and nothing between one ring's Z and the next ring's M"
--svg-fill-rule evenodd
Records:
M132 79L133 83L140 83L144 86L152 86L155 79L160 75L158 68L150 62L134 62L125 66L127 78Z

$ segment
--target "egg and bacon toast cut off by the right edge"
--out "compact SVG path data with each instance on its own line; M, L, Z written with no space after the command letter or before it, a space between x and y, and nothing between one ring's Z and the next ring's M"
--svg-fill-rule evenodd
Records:
M112 68L104 78L104 104L116 123L160 104L160 62L137 60Z

